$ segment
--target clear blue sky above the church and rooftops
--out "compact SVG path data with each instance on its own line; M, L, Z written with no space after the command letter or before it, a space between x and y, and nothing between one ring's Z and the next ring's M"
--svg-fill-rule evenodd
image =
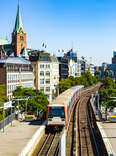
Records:
M0 0L0 38L11 41L18 0ZM116 0L20 0L28 47L78 50L92 63L111 62L116 49ZM60 54L59 54L60 55Z

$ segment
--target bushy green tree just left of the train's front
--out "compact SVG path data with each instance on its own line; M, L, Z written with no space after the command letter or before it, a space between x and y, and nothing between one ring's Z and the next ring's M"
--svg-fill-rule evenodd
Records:
M46 107L48 105L47 97L44 96L42 92L38 89L32 88L22 88L18 86L15 91L13 91L13 96L15 99L25 99L27 97L27 111L28 112L36 112L37 109L39 112L45 112ZM15 101L15 105L17 105L17 101ZM20 101L20 109L22 111L26 110L26 100Z

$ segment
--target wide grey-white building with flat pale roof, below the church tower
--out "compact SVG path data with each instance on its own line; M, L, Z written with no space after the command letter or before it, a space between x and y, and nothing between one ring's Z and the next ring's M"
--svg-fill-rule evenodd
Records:
M12 99L17 86L34 88L34 74L29 61L19 57L0 59L0 84L5 84L6 96Z

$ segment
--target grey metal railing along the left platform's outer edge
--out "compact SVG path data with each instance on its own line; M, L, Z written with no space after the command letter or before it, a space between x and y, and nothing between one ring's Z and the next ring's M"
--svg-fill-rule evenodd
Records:
M4 120L0 121L0 130L4 129L5 126L8 124L12 124L12 121L16 119L16 114L12 113L11 115L7 116Z

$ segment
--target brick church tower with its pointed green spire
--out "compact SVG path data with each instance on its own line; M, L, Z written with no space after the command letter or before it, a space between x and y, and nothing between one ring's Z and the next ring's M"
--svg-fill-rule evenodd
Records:
M26 33L23 30L19 4L17 9L15 27L12 33L12 46L15 52L15 56L19 56L27 47Z

